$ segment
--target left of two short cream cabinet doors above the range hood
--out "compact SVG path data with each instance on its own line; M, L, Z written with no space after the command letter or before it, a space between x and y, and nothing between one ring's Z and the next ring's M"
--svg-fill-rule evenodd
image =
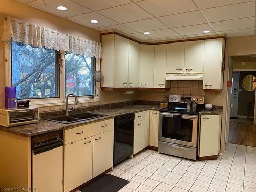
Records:
M185 42L167 44L166 73L184 72Z

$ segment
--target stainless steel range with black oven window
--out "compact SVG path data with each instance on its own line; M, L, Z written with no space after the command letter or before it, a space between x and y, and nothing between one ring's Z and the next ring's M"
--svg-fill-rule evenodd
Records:
M191 102L197 103L196 110L191 110ZM204 110L204 102L201 96L170 95L168 107L159 111L160 153L196 160L199 112Z

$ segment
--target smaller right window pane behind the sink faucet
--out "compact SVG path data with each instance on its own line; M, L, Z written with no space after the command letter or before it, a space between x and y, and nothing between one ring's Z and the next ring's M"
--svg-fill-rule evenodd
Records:
M65 54L65 90L66 96L95 95L92 73L95 71L95 59L83 55Z

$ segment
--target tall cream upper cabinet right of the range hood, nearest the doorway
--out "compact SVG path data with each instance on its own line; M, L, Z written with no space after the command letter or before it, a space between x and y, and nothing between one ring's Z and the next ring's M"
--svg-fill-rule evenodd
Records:
M222 90L225 40L205 40L203 89Z

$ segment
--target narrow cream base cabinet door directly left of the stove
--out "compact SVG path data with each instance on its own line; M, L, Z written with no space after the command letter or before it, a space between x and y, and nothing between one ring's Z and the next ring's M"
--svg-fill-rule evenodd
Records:
M150 146L158 147L159 111L150 110Z

